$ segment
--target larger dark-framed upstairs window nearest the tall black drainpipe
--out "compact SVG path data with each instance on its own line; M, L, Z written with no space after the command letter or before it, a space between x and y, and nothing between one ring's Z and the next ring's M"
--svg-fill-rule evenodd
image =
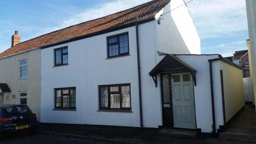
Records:
M109 36L108 40L108 58L129 54L128 33Z

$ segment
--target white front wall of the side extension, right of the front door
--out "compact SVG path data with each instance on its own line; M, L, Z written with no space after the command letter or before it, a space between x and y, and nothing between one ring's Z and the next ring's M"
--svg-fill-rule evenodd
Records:
M218 58L218 55L180 55L182 61L196 69L195 108L196 126L202 132L212 132L212 101L210 85L210 59Z

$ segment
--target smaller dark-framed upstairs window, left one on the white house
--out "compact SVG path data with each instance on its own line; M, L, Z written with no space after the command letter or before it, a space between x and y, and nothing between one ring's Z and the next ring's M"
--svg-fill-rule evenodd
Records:
M54 50L55 66L68 64L68 47L62 47Z

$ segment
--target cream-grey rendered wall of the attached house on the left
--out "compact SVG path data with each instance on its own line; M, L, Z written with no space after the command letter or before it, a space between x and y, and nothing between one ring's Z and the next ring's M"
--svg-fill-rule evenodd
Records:
M27 105L40 121L40 49L0 59L0 83L8 84L11 92L4 92L4 104L20 104L20 92L27 92ZM28 78L20 79L20 60L27 59ZM9 96L9 100L7 100Z

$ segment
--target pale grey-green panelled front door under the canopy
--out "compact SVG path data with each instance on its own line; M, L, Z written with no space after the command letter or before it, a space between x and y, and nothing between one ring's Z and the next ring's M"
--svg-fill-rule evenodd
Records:
M190 73L171 76L173 127L196 129L194 86Z

